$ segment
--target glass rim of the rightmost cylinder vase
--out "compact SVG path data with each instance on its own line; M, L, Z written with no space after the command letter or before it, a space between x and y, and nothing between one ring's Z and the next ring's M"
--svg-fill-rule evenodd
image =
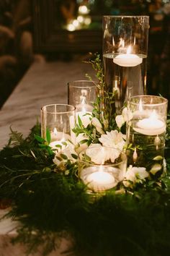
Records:
M161 106L161 105L165 105L168 103L167 98L157 96L157 95L134 95L134 96L131 96L130 99L128 99L128 103L138 106L140 104L140 102L135 103L132 101L132 99L134 99L134 98L139 98L139 99L140 98L151 98L151 97L161 99L161 100L163 100L163 102L161 102L161 103L142 103L142 105L143 106Z

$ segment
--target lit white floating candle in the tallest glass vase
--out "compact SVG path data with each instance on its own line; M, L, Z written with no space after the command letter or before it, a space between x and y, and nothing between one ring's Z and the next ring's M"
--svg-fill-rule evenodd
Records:
M143 61L136 54L130 54L130 46L127 49L127 54L119 54L114 59L113 62L121 67L135 67L141 64Z

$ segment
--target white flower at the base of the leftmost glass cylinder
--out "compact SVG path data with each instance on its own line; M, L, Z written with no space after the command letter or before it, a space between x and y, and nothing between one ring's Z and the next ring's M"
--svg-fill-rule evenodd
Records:
M71 143L68 143L66 148L63 148L60 152L55 153L55 158L53 159L53 162L56 165L66 163L68 160L75 162L76 159L73 158L73 155L77 155L77 153L75 152L73 145ZM65 157L63 158L63 156Z

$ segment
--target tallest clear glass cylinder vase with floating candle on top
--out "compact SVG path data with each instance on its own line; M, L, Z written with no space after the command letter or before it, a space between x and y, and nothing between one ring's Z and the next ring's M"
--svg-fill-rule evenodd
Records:
M103 17L105 90L115 93L113 112L131 95L146 94L148 16Z

